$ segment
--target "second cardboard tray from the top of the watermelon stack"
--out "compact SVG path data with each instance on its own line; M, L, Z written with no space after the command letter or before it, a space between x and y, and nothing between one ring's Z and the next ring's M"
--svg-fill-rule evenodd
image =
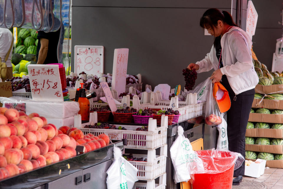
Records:
M263 99L254 99L253 104L251 105L252 108L267 108L270 110L283 110L283 100L269 100ZM260 103L259 103L260 102Z

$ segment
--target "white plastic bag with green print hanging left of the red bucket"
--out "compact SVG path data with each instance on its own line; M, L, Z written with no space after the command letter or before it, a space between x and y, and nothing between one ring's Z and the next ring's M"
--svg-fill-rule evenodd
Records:
M190 180L191 174L204 173L202 160L192 150L189 139L183 133L184 129L178 126L178 137L170 148L175 183Z

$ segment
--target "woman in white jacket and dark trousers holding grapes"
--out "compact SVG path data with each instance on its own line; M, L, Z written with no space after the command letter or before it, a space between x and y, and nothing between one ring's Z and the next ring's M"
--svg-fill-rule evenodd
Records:
M200 19L200 26L215 37L210 53L188 69L198 73L215 71L212 82L219 82L229 92L231 107L227 111L228 148L245 157L245 134L255 86L259 78L254 70L251 56L251 38L239 28L230 13L218 9L208 9ZM234 170L233 185L239 185L245 173L245 163Z

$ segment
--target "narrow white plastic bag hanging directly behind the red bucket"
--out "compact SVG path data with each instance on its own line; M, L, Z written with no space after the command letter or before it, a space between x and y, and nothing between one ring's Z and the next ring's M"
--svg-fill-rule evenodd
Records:
M221 113L222 123L217 126L219 132L217 149L228 150L228 136L227 136L227 123L224 119L224 113Z

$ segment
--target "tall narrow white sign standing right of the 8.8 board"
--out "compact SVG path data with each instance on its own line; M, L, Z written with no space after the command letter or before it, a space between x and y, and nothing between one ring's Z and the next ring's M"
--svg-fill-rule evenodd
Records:
M125 92L128 56L128 48L116 48L114 50L111 89L115 89L118 94Z

